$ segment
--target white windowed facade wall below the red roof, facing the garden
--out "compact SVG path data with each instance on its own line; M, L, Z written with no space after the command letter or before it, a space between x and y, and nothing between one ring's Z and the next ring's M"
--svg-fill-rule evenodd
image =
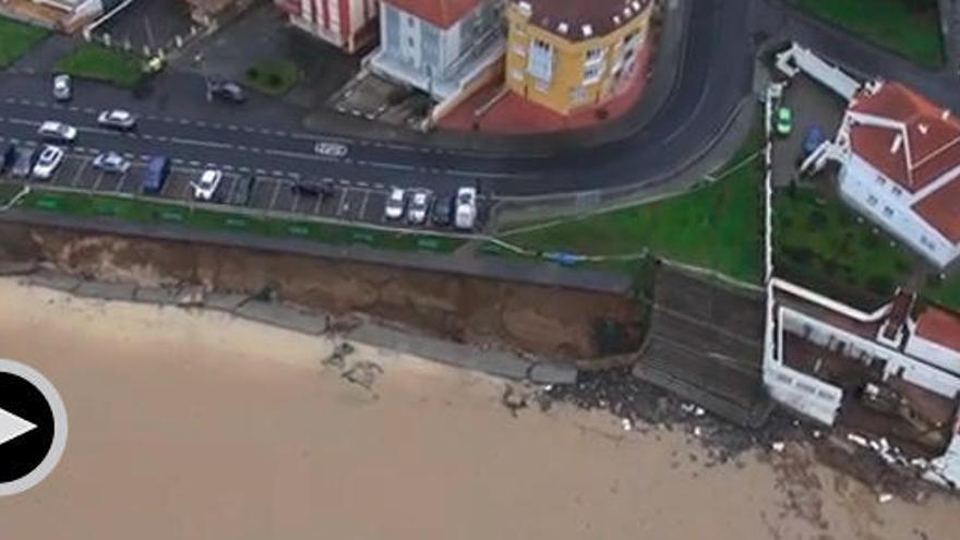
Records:
M960 248L911 208L913 199L907 190L855 154L841 167L839 183L840 195L848 204L938 267L947 266L960 254Z

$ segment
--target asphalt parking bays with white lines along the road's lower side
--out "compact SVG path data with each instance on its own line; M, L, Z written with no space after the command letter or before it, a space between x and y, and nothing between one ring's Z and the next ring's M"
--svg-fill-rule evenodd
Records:
M34 141L10 141L17 144L21 149L37 146ZM0 137L0 143L5 142L7 140ZM141 179L146 169L148 156L124 154L124 157L131 161L131 166L125 172L117 173L105 172L93 167L94 157L98 152L96 148L72 148L49 180L40 181L33 178L26 180L8 175L2 178L2 181L27 182L35 185L51 185L127 197L143 194ZM182 163L175 159L159 196L171 201L192 202L194 199L191 184L200 178L203 171L202 164ZM253 179L249 202L245 206L249 209L415 228L403 219L389 220L386 218L385 204L389 188L383 184L370 185L364 182L351 182L347 179L329 179L333 185L332 193L328 196L314 196L303 195L293 189L297 181L300 180L296 173L285 175L281 171L275 171L277 175L272 175L259 173L257 171L244 172L236 169L223 172L223 180L214 196L220 206L226 207L227 205L223 202L233 199L239 180L245 177ZM416 228L427 227L430 226L416 226Z

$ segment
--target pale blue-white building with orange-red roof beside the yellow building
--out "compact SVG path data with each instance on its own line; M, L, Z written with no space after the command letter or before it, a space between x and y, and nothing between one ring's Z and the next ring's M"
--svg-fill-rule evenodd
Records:
M502 76L502 0L383 0L373 72L445 107Z

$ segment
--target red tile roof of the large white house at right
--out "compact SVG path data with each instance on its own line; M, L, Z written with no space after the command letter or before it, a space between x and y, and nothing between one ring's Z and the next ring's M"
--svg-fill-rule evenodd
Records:
M960 121L900 83L884 83L875 94L864 91L850 110L904 125L905 132L854 124L850 136L856 154L910 192L960 165ZM903 141L891 152L898 134Z

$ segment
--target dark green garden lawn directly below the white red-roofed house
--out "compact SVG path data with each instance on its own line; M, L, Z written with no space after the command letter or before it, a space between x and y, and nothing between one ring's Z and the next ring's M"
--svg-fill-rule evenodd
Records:
M835 196L783 189L773 208L778 276L860 307L889 298L910 276L907 250Z

